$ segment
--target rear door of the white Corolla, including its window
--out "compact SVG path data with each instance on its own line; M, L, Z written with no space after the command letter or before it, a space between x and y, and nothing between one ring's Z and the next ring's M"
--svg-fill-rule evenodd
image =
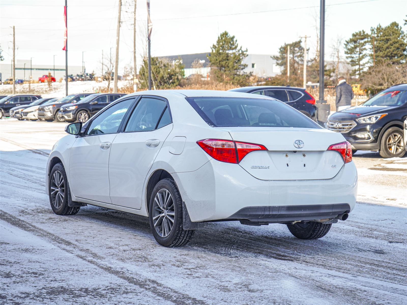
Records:
M110 199L114 205L141 208L144 180L172 128L165 100L140 99L110 150Z

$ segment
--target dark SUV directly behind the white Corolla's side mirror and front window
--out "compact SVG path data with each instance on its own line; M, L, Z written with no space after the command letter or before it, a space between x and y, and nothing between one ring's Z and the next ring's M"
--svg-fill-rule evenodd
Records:
M58 112L59 120L85 123L89 118L114 100L125 96L121 93L95 93L74 104L66 104Z

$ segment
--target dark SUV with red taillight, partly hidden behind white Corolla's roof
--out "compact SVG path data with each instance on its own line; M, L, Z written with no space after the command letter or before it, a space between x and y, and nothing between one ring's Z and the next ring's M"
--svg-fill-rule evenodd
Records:
M315 98L304 88L289 86L252 86L230 89L229 91L270 96L271 98L285 102L287 105L290 105L317 122L317 107L315 107Z

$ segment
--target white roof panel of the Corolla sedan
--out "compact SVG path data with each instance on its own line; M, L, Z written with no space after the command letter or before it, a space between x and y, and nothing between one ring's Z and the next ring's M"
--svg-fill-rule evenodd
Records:
M138 91L135 93L127 94L126 97L138 96L138 95L152 95L152 96L162 96L164 98L169 97L236 97L236 98L264 98L271 99L268 96L254 95L245 92L236 91L222 91L222 90L193 90L193 89L177 89L177 90L146 90Z

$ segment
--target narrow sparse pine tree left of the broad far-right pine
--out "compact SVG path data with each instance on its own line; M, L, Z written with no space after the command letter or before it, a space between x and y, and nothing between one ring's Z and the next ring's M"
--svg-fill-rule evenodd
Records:
M346 58L349 59L350 65L354 67L351 75L360 77L365 69L368 63L366 59L369 56L369 42L368 34L364 30L353 33L352 37L345 41Z

